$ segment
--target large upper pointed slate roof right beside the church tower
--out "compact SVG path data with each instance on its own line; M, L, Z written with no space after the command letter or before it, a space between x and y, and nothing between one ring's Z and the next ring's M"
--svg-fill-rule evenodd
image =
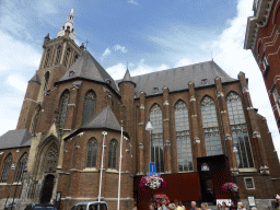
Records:
M86 79L103 83L110 83L110 86L118 93L118 88L113 78L106 70L92 57L92 55L84 50L77 61L70 67L60 81L61 83L73 79Z

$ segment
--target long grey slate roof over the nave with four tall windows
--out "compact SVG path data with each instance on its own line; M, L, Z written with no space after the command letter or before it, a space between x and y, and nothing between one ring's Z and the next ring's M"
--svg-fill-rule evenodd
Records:
M164 86L168 88L170 92L188 90L189 82L195 83L196 88L213 85L217 77L221 78L222 83L238 81L231 78L213 60L137 75L131 80L136 83L136 97L139 97L141 91L147 96L162 94ZM207 84L201 83L205 79L207 79ZM116 82L119 84L122 80Z

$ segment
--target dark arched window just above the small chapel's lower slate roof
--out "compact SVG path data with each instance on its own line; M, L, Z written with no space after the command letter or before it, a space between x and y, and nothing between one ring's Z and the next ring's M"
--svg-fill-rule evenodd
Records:
M82 124L89 121L95 110L95 93L91 90L85 94L83 103L83 119Z

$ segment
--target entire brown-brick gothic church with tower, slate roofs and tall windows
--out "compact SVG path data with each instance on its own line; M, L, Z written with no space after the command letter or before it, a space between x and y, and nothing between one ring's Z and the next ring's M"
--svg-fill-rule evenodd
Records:
M211 60L115 81L75 45L72 11L43 47L18 128L0 137L0 198L55 202L61 192L60 209L98 198L117 209L121 133L121 210L133 200L147 209L138 183L149 162L168 183L155 192L185 203L230 198L221 190L230 180L244 202L269 205L280 192L271 135L243 72L233 79Z

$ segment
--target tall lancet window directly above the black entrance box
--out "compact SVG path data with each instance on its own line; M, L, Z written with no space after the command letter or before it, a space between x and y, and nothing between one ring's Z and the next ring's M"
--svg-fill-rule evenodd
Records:
M222 144L217 120L215 105L211 97L205 96L201 101L201 114L208 156L222 154Z

